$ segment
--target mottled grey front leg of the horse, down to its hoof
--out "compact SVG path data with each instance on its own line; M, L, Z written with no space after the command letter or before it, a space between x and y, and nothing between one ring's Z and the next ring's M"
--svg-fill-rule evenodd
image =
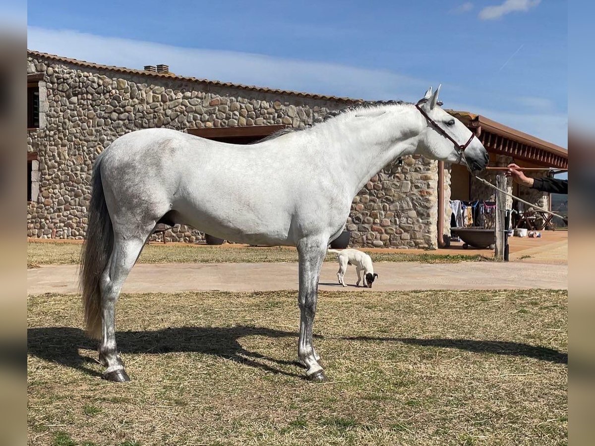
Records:
M318 279L326 254L328 237L304 239L297 244L299 253L299 296L300 330L297 357L306 367L306 378L312 381L326 381L324 370L318 361L320 356L312 344L312 328L318 300Z

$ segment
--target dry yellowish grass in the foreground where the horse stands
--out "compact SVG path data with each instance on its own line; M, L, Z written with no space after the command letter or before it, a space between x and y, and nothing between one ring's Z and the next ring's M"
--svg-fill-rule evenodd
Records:
M271 304L274 303L274 304ZM127 294L100 378L79 297L28 297L30 445L564 445L566 291L321 292L302 379L295 292Z

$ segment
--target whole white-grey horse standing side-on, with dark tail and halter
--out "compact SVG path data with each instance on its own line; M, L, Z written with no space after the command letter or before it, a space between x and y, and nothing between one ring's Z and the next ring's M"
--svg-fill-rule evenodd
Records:
M430 88L417 104L352 107L306 130L248 146L165 128L115 140L95 161L80 272L87 332L101 340L104 378L129 381L117 355L115 303L161 221L240 243L296 246L297 356L307 378L324 381L312 345L318 279L353 197L404 155L461 162L474 170L487 164L480 141L440 108L439 90L432 94Z

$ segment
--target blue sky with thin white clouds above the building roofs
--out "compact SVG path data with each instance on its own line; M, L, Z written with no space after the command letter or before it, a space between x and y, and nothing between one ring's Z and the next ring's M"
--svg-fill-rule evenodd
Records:
M27 47L361 99L421 98L567 147L565 0L30 0Z

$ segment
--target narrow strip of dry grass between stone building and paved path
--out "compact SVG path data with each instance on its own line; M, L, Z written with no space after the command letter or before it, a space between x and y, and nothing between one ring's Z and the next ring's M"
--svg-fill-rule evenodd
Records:
M74 265L79 263L80 244L35 243L27 244L27 268L40 265ZM432 253L371 252L374 262L457 263L486 260L481 255L440 255ZM219 247L185 244L148 244L139 257L139 263L252 263L297 262L294 248L276 247ZM325 261L336 262L335 255Z

